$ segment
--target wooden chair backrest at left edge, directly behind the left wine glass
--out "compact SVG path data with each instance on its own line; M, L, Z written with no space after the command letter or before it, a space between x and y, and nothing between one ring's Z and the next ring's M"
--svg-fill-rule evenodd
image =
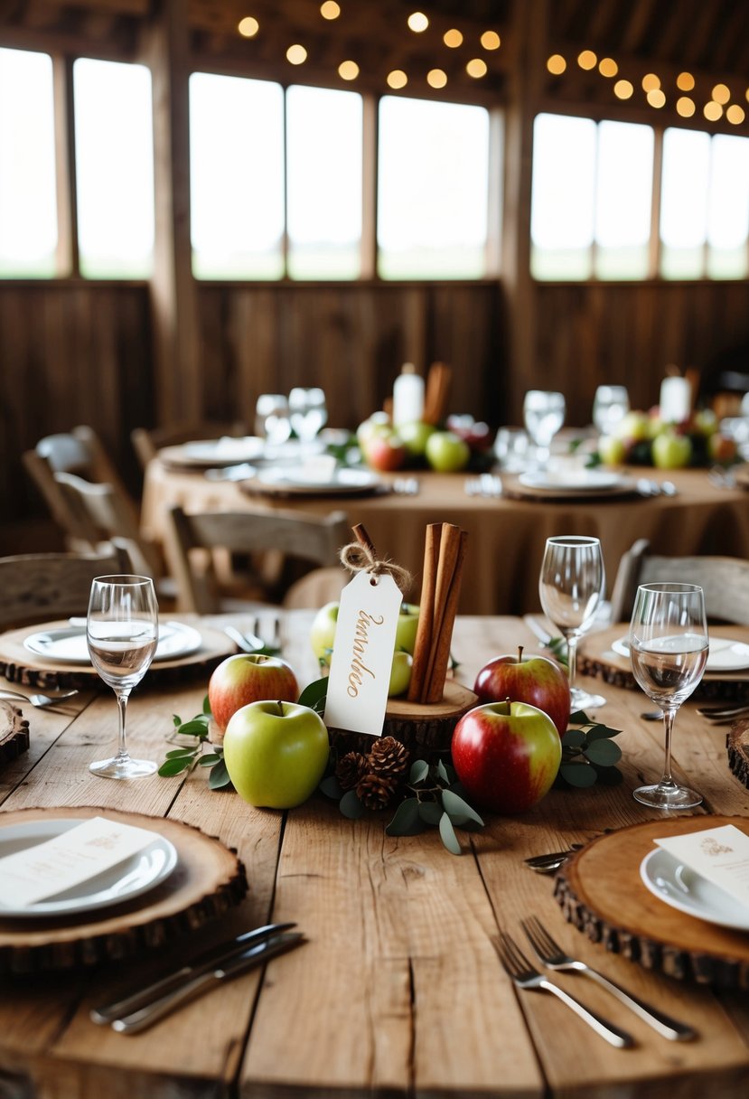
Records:
M96 576L132 571L127 553L114 545L101 554L0 557L0 629L86 614Z

